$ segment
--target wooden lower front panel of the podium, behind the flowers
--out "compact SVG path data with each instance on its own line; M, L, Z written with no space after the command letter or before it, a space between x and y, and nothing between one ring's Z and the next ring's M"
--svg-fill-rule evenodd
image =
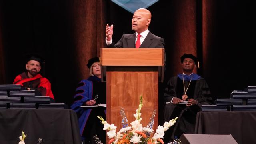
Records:
M138 109L140 95L143 96L141 124L146 126L153 110L158 109L158 72L107 72L108 123L114 123L117 130L122 128L121 107L125 110L128 122L134 121L133 114ZM158 114L154 128L157 126Z

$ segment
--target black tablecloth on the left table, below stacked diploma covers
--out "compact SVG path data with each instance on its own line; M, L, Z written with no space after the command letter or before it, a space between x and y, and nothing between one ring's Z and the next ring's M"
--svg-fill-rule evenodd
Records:
M81 144L76 113L70 109L0 110L0 144Z

